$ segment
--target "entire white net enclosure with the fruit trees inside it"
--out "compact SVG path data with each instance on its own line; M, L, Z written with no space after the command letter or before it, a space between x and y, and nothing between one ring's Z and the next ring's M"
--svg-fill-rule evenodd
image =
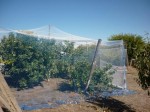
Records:
M85 88L89 93L126 89L123 41L97 41L53 26L1 28L0 39L1 71L19 90L22 109L79 103Z

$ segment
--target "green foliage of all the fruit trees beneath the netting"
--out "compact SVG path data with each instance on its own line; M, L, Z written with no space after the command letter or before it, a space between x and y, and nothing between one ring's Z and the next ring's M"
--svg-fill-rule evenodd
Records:
M95 46L75 48L74 43L68 41L9 34L1 40L0 49L5 64L3 72L18 88L33 87L43 79L61 77L67 78L72 88L81 91L88 80ZM93 85L111 83L108 73L105 73L108 69L96 70Z

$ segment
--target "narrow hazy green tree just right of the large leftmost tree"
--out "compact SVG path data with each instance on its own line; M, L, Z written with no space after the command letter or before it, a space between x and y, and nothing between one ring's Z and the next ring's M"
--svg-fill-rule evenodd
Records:
M40 40L42 43L39 44L39 51L42 53L40 58L42 61L45 78L48 80L50 77L58 73L57 59L59 58L58 46L55 40Z

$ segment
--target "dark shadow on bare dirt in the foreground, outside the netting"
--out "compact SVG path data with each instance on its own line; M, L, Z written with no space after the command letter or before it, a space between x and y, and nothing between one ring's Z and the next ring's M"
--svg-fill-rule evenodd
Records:
M131 108L124 102L118 101L114 98L99 98L92 101L88 100L87 102L98 105L99 107L111 112L135 112L134 108Z

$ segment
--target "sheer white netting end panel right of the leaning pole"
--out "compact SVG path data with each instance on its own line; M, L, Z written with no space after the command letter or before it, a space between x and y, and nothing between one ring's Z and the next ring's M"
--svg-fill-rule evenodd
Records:
M126 54L123 41L102 42L99 50L100 67L111 64L111 69L115 70L112 84L117 87L126 88Z

